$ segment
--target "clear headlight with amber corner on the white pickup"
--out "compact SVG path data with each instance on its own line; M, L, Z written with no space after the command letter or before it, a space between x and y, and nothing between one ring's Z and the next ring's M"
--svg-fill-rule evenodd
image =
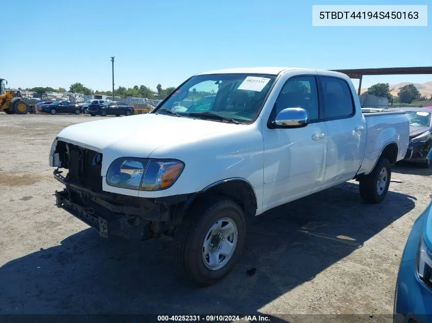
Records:
M109 166L106 182L110 186L156 191L174 184L184 167L178 160L118 158Z

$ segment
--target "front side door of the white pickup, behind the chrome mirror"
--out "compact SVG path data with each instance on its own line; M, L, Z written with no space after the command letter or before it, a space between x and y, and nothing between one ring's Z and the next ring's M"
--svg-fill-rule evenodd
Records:
M269 129L264 120L264 210L321 189L327 128L320 111L318 84L316 75L289 78L269 117L274 120L285 108L304 108L310 119L306 127Z

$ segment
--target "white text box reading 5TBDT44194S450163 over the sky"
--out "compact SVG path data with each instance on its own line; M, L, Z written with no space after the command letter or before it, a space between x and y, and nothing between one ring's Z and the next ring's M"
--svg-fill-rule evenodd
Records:
M427 6L312 6L312 26L427 27Z

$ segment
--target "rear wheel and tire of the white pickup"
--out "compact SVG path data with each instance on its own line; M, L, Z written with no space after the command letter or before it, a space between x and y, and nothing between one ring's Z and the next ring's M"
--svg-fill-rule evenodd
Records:
M392 178L391 164L381 157L369 175L359 179L360 196L368 203L381 203L389 191Z

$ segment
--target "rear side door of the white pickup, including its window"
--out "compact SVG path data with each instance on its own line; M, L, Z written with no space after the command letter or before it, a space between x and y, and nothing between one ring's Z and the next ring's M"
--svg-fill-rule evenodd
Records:
M320 76L319 80L329 136L322 186L325 189L355 176L365 147L366 126L347 80L333 76Z

